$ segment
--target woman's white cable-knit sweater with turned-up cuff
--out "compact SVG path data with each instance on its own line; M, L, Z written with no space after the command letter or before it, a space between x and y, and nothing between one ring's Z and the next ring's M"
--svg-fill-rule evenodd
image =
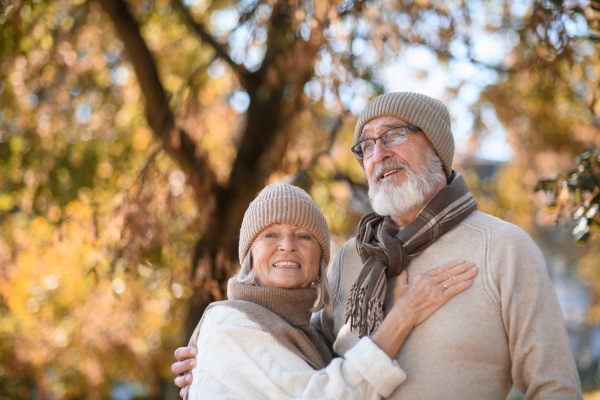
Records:
M243 312L211 308L198 337L188 399L379 399L405 374L369 338L315 371Z

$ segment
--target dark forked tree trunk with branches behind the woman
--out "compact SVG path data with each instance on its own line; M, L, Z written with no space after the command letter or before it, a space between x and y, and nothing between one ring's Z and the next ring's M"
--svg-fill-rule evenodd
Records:
M233 68L250 97L250 105L229 182L224 187L217 183L205 152L185 131L175 127L175 118L169 109L156 64L126 2L101 0L101 3L115 24L134 65L146 100L148 125L185 173L205 221L192 260L194 294L185 322L185 334L189 338L206 306L226 298L227 281L239 264L237 244L244 212L270 174L281 167L289 139L288 125L294 122L302 109L300 99L304 84L310 79L317 52L325 43L323 27L315 28L308 41L295 34L292 42L282 41L281 38L294 32L291 18L295 9L285 1L275 2L261 68L253 73L248 73L242 66ZM178 9L187 12L181 4ZM188 26L191 25L192 31L215 49L218 57L232 64L221 45L216 40L208 40L208 34L189 14L184 15L184 20ZM273 79L273 76L278 78ZM293 92L291 96L286 95L292 99L291 102L284 100L285 87Z

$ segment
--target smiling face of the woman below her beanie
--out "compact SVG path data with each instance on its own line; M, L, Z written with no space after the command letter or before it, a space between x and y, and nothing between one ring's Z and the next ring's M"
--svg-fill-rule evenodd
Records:
M319 275L321 247L302 227L271 225L254 240L251 251L260 285L304 289Z

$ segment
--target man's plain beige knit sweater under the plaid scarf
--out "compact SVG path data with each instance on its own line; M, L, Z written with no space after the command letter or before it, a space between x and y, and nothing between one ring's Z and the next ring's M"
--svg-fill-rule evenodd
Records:
M514 383L525 399L580 399L556 293L529 235L476 211L410 262L409 282L456 259L476 264L474 284L410 333L396 357L407 378L389 398L504 400ZM313 315L342 356L358 341L344 311L361 268L352 239L327 274L333 310ZM387 309L393 287L390 280Z

